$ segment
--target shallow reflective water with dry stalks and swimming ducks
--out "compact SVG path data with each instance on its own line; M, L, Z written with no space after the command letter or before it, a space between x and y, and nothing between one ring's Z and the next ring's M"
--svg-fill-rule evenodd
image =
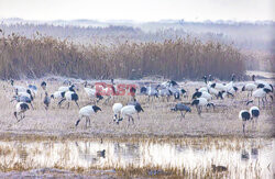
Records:
M275 139L120 141L0 141L0 170L157 167L204 175L212 171L211 165L220 165L230 177L274 177Z

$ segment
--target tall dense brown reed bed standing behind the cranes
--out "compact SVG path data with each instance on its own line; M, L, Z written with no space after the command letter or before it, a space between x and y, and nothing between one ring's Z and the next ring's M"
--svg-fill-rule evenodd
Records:
M231 45L202 43L193 37L88 46L43 35L0 37L0 77L3 79L45 75L84 79L139 79L154 75L201 79L208 74L229 79L232 72L243 75L243 58Z

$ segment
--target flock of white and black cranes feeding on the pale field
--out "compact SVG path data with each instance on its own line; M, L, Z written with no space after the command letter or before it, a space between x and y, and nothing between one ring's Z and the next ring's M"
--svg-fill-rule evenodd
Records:
M44 93L44 98L42 101L44 103L45 110L51 109L51 103L54 100L58 100L58 108L62 108L62 104L66 101L67 109L69 109L70 102L75 102L75 104L79 109L79 119L76 121L75 126L77 127L81 119L86 118L86 127L88 127L88 124L90 125L90 118L97 114L98 111L102 111L99 107L99 102L103 99L105 102L101 105L109 103L111 98L113 98L113 122L119 124L121 121L128 118L130 124L131 121L132 123L134 123L135 114L138 115L138 119L140 119L140 112L146 113L146 111L144 111L144 109L142 108L141 103L138 101L136 93L139 93L139 98L141 96L147 97L145 104L148 104L151 102L156 103L157 98L162 98L163 101L166 101L167 103L172 101L174 103L174 108L170 108L170 111L179 111L183 120L188 112L191 113L193 107L195 107L197 113L201 115L202 108L209 109L212 107L213 110L216 109L217 104L215 100L223 100L227 97L234 99L235 96L239 94L238 90L240 88L241 92L248 92L248 99L245 99L246 102L244 102L244 107L245 104L248 107L251 103L254 103L254 101L257 99L257 107L253 105L252 108L250 108L250 110L243 109L239 113L239 119L242 121L242 131L243 133L245 133L245 125L249 121L252 121L253 123L255 122L257 124L261 101L264 108L267 105L267 97L273 100L273 85L267 83L265 81L255 80L254 75L252 76L252 81L244 82L242 86L239 85L239 87L237 87L238 85L234 82L234 74L231 77L231 81L229 81L228 83L213 81L211 75L209 75L208 77L204 76L202 79L205 81L205 86L196 88L195 92L191 94L190 101L188 100L189 91L179 86L178 82L174 80L168 80L158 85L148 83L143 86L141 85L139 87L131 87L130 89L128 89L132 97L129 102L114 102L114 100L119 100L119 98L114 99L113 96L118 91L119 87L114 85L113 79L111 80L111 85L108 86L109 88L102 85L100 86L100 88L98 88L100 90L98 90L96 86L92 85L90 85L89 87L88 82L85 81L82 89L86 93L87 100L90 102L82 108L80 108L78 104L79 89L77 88L77 85L72 85L72 82L68 82L68 86L59 87L50 96L47 92L46 81L42 81L41 88L44 91L42 92L42 96ZM25 112L30 110L29 104L34 110L33 100L37 96L38 88L35 85L28 85L26 87L15 86L13 80L11 80L10 83L14 91L14 96L12 97L11 102L16 101L14 116L18 119L18 121L21 121L25 118ZM108 93L108 90L110 89L111 93ZM186 102L183 102L183 98L186 99Z

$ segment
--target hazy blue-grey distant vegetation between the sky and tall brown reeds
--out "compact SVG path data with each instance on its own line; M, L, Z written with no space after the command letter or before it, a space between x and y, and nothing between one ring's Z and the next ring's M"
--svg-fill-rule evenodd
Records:
M6 21L4 21L6 22ZM77 21L66 23L66 25L32 24L24 23L2 23L0 29L6 36L16 33L26 37L40 32L43 35L58 37L61 40L72 40L80 44L131 42L164 42L165 40L177 40L191 35L202 42L217 41L224 44L232 44L242 49L261 49L275 52L275 23L249 24L249 23L190 23L190 22L155 22L144 24L121 23L121 25L110 25L94 21ZM75 23L90 26L79 26ZM74 25L75 24L75 25ZM102 26L92 26L102 25Z

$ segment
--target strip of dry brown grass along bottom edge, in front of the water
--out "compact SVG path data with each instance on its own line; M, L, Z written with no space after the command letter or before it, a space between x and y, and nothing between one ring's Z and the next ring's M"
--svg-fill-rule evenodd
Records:
M25 170L26 169L26 170ZM30 168L31 169L31 168ZM85 178L224 178L230 176L235 176L229 172L213 172L211 167L207 169L194 169L183 171L177 170L177 168L169 169L161 169L158 167L142 167L142 168L114 168L113 171L110 172L109 168L99 169L99 168L89 168L89 172L84 170L82 168L72 168L69 170L64 169L63 167L53 168L47 172L33 172L32 170L24 167L24 164L18 164L14 168L9 168L7 170L2 170L3 174L0 172L0 176L33 176L33 177L51 177L52 175L56 177L85 177ZM0 166L1 170L1 166ZM12 172L11 172L12 171ZM57 172L56 172L57 171ZM10 172L10 174L9 174ZM250 171L246 171L250 172ZM239 176L239 175L238 175ZM239 176L240 177L240 176Z

